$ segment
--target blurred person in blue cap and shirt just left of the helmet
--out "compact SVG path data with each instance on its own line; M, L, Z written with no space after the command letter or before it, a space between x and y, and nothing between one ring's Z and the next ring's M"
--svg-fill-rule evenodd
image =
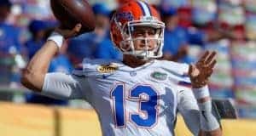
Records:
M109 36L109 15L111 11L103 4L96 3L93 7L96 14L96 29L70 40L68 54L74 65L83 58L119 58L119 51L113 48Z

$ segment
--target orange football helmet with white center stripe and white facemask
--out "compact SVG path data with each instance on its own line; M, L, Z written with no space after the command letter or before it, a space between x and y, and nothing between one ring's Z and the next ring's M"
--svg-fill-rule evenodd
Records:
M156 46L153 51L134 49L134 37L131 32L137 26L147 26L157 29L159 32L154 37ZM119 7L111 20L111 38L114 45L123 54L132 54L143 58L159 58L162 56L165 24L160 20L157 10L143 1L131 1ZM145 40L148 40L145 37ZM152 40L152 38L151 38Z

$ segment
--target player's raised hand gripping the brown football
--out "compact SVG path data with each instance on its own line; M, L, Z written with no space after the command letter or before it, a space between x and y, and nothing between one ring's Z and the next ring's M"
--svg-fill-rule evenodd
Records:
M69 29L63 29L60 27L55 28L55 31L60 33L61 36L63 36L65 39L70 38L70 37L76 37L79 35L79 31L81 30L82 25L77 24L76 26L73 27L72 30Z

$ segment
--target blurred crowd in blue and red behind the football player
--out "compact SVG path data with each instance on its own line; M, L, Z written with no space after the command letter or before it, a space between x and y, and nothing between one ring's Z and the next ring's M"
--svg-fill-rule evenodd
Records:
M122 59L112 46L108 28L114 7L124 1L90 0L96 30L68 40L52 60L49 72L71 72L84 57ZM239 116L256 118L256 1L148 1L159 8L166 23L162 59L191 63L203 50L216 50L218 64L210 79L212 97L235 99ZM20 71L55 26L58 22L49 0L0 1L0 99L70 105L20 86Z

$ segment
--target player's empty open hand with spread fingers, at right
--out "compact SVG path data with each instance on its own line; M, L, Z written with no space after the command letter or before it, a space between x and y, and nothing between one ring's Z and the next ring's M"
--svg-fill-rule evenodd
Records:
M195 64L189 65L189 77L193 88L202 88L207 85L216 64L215 56L215 51L207 51Z

